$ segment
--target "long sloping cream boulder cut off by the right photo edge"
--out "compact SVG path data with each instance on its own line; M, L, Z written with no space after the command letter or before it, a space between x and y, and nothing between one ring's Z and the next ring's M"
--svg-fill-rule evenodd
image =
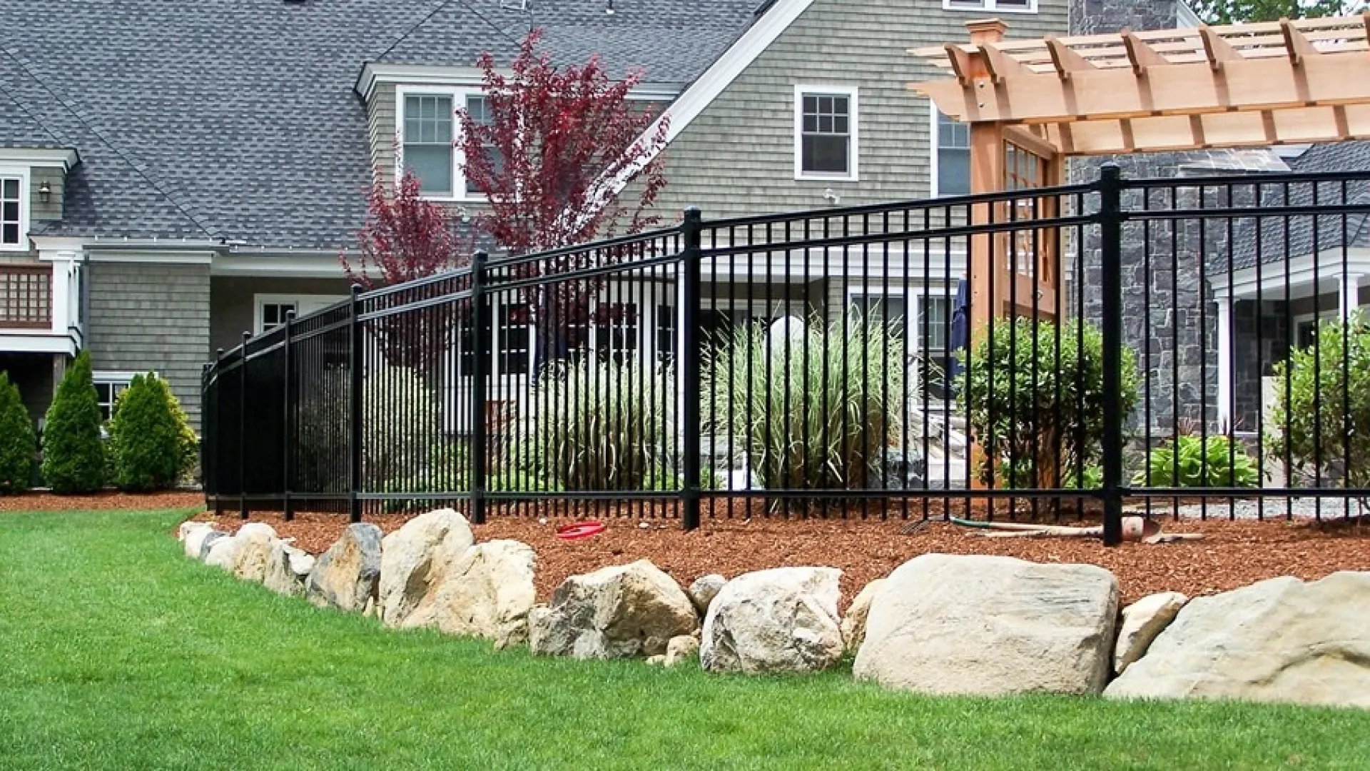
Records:
M1370 572L1191 600L1104 694L1370 708Z

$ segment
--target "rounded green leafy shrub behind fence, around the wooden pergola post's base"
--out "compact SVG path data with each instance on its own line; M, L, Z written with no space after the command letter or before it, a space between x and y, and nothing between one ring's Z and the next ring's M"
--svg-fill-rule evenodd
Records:
M1012 475L1011 487L1054 488L1056 473L1074 479L1088 472L1103 442L1103 335L1096 327L1070 320L997 321L970 354L966 409L971 435L988 457L1030 471ZM1122 350L1122 414L1137 403L1137 364ZM991 421L993 416L993 421ZM991 482L989 465L977 469ZM1088 482L1088 473L1086 473ZM1018 484L1029 483L1029 484Z

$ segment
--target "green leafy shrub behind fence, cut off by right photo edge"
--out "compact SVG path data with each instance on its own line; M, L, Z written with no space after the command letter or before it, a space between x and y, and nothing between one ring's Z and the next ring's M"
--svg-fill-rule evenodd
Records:
M1323 322L1317 346L1275 364L1274 384L1267 446L1291 479L1340 480L1344 466L1349 487L1370 487L1370 320Z

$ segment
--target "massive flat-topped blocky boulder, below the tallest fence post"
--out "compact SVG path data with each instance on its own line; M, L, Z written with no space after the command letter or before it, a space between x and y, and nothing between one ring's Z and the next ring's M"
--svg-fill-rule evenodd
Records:
M874 598L852 674L937 694L1097 694L1118 580L1095 565L925 554Z

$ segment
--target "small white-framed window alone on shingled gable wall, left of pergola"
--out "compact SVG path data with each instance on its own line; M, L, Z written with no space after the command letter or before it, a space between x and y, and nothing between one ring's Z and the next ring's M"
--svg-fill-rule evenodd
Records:
M795 86L795 178L856 181L856 86Z

